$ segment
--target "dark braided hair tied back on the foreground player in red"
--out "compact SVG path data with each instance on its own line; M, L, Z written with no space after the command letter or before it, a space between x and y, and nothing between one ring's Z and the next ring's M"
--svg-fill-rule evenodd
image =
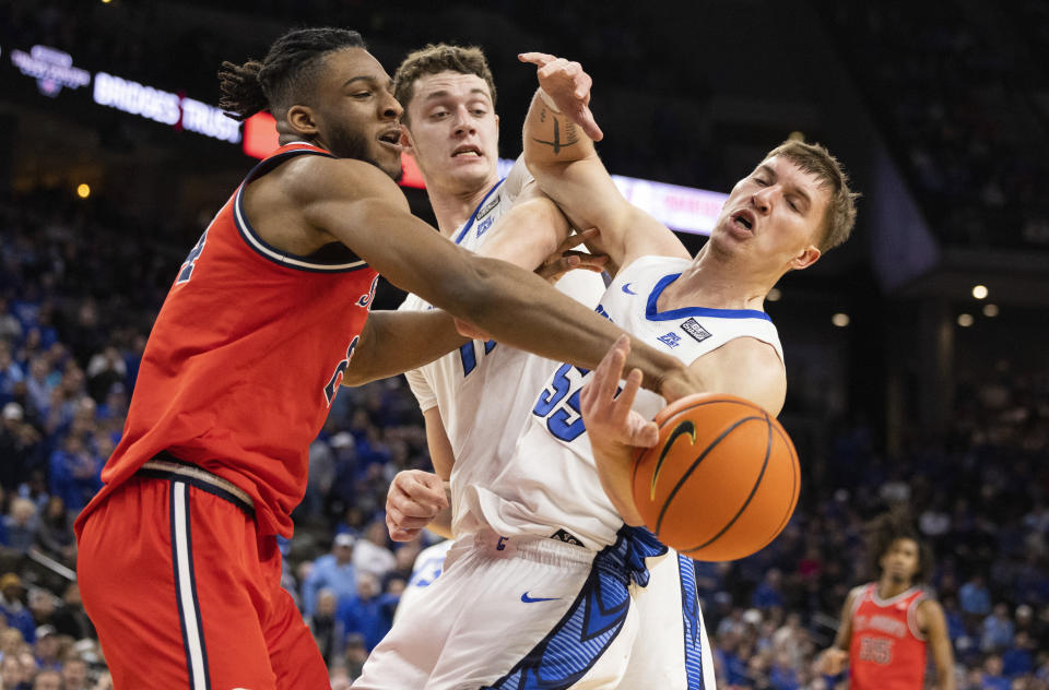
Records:
M346 28L298 28L287 32L270 46L266 59L244 64L225 61L219 69L219 105L226 116L244 121L269 110L280 117L314 88L317 67L329 52L365 48L361 34Z

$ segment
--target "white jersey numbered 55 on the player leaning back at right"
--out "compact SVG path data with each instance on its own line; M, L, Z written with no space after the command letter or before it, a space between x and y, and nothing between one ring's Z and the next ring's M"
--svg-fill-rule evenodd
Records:
M692 364L736 337L768 343L782 360L776 326L763 311L703 307L659 311L659 296L689 265L687 259L645 257L620 271L598 312L657 349ZM552 536L567 532L600 549L615 542L623 521L597 474L579 414L587 369L561 365L532 401L532 411L512 457L502 471L468 487L467 509L507 536ZM651 418L665 406L641 390L634 408ZM566 538L562 535L561 538Z

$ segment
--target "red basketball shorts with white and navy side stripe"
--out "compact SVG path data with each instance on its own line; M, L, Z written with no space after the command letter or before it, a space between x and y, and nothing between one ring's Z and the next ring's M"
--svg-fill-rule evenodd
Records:
M87 516L80 590L116 690L330 688L275 537L235 501L137 476Z

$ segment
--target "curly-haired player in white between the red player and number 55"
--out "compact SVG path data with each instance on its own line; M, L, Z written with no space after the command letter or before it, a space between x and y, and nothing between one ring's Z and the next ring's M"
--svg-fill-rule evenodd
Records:
M557 243L568 234L567 222L539 191L522 162L505 179L499 178L495 86L480 49L436 45L417 50L398 70L394 90L405 107L402 143L423 172L438 228L445 237L472 251L528 269L534 269L551 254L551 263L540 270L550 277L566 269L600 272L604 257L584 252L562 257L568 243ZM593 231L575 235L569 243L592 235ZM599 275L584 272L564 276L557 286L591 308L604 290ZM412 295L401 309L426 310L431 306ZM413 483L416 499L432 501L428 511L445 505L440 480L448 481L455 474L451 486L458 488L471 480L472 473L494 472L497 459L512 452L516 431L533 397L532 393L522 394L515 401L499 382L512 381L520 390L538 391L554 366L551 360L532 358L521 350L475 341L409 372L425 418L436 477L406 472L398 477L398 484ZM506 429L511 427L514 431L507 433ZM431 492L424 497L421 493L426 488ZM450 523L448 511L429 527L450 536ZM417 530L392 531L394 538L408 538L415 533ZM440 573L448 546L440 543L420 554L398 617ZM417 654L415 658L415 663L425 664Z

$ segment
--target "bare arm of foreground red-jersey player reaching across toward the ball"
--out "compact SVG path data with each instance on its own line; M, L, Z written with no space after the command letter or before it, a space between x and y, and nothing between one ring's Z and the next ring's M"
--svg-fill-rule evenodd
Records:
M475 257L411 215L400 189L378 168L351 159L304 156L288 195L313 228L352 248L391 283L500 342L592 368L622 330L541 277L505 261ZM628 366L669 400L689 378L681 364L640 342Z

